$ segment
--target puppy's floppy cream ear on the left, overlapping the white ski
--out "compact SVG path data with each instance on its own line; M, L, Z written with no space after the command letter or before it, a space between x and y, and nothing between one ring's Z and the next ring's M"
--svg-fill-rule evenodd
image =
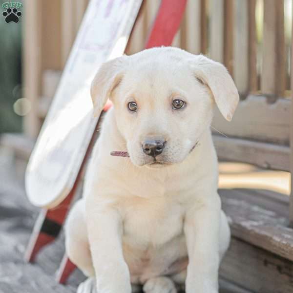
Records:
M103 63L94 77L90 94L94 105L94 116L100 115L113 90L121 83L127 56L110 60Z

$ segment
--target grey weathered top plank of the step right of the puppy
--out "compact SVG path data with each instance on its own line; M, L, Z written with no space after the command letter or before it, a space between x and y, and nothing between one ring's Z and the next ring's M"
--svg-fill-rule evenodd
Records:
M288 228L287 217L267 207L251 204L251 194L246 200L238 198L237 192L221 190L220 194L234 237L293 261L293 229Z

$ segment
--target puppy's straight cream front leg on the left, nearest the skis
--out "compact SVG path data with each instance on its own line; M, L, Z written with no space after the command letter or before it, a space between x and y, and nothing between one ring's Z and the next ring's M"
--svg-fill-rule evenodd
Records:
M131 293L122 250L122 219L114 208L87 203L87 232L97 281L97 293Z

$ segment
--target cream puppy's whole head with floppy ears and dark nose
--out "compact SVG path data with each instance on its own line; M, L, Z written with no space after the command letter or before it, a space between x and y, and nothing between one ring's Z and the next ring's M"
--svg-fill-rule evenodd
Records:
M171 47L104 63L91 95L96 115L112 100L132 163L147 167L182 162L210 126L214 104L230 121L239 101L222 64Z

